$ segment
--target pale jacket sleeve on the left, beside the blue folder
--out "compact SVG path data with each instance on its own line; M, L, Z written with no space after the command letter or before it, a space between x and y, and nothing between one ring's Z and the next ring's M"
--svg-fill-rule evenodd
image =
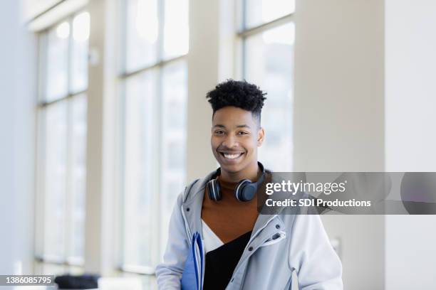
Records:
M187 259L189 244L185 232L185 222L181 213L182 194L172 210L168 242L164 259L156 267L157 289L180 290L180 279Z

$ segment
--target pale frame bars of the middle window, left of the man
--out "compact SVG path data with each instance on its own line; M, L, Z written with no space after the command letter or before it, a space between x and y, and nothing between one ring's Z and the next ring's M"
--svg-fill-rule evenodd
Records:
M163 71L167 66L170 66L174 63L180 63L184 62L187 66L187 58L189 55L189 51L183 55L177 55L170 58L164 57L164 24L165 24L165 2L166 1L160 1L157 0L157 22L158 22L158 28L157 28L157 54L155 58L155 62L151 63L150 65L142 65L140 68L136 68L134 70L126 70L126 60L127 60L127 14L128 14L128 0L121 0L119 2L119 15L120 15L120 31L118 35L118 40L122 43L120 45L120 61L118 62L118 75L116 82L118 83L118 103L120 104L120 109L118 111L118 115L120 116L120 136L122 140L125 140L125 101L126 101L126 90L125 90L125 83L128 82L128 80L132 79L133 77L137 77L139 75L145 74L147 72L155 70L156 77L155 77L155 85L156 85L156 94L153 96L155 98L156 102L156 108L158 109L158 113L155 116L154 122L155 127L157 128L157 131L160 132L163 126L163 120L162 120L162 108L164 106L164 100L163 100L163 90L162 90L162 80L164 80L163 77ZM189 6L189 0L187 1L187 4ZM189 14L189 9L188 9ZM188 16L189 21L189 16ZM189 26L188 26L189 27ZM187 73L187 72L186 72ZM186 83L186 87L188 87L188 84ZM156 146L157 151L155 152L155 158L152 160L153 165L155 168L157 168L155 173L155 180L156 182L156 189L155 192L152 195L152 200L156 200L155 207L152 207L152 216L157 217L157 220L155 221L155 228L157 230L167 230L162 229L162 219L160 215L160 207L162 205L162 198L158 192L162 189L162 156L163 156L163 150L162 150L162 134L158 134L156 136L156 139L158 140L158 144ZM117 188L117 195L120 199L120 218L118 219L120 222L117 225L117 231L120 232L120 239L118 239L118 249L116 249L116 264L118 265L116 267L116 271L120 274L139 274L141 276L147 276L152 277L155 276L155 267L151 265L132 265L132 264L125 264L125 254L124 254L124 225L125 225L125 142L120 142L120 149L119 149L119 161L120 164L120 170L118 171L120 174L120 183ZM186 168L185 168L186 169ZM153 243L157 244L157 250L158 252L162 252L162 249L165 248L165 245L162 245L161 241L161 235L160 232L158 235L155 235L157 238ZM160 256L160 255L159 255Z

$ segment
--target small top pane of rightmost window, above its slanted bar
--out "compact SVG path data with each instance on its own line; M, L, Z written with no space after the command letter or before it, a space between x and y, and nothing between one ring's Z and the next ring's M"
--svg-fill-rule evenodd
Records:
M295 0L243 0L245 27L250 28L295 11Z

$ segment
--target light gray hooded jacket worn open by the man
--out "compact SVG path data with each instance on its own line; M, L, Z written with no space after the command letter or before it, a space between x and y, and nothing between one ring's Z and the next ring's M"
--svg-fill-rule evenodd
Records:
M160 290L180 289L192 235L202 235L204 187L212 174L177 198L164 262L156 268ZM343 289L342 264L319 215L259 215L226 289L291 289L293 271L301 290Z

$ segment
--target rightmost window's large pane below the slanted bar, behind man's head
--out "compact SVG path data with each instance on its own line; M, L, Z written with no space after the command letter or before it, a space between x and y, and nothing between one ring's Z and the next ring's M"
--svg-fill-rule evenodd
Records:
M259 160L274 171L292 169L294 23L246 39L246 80L266 90ZM277 122L280 120L280 122Z

